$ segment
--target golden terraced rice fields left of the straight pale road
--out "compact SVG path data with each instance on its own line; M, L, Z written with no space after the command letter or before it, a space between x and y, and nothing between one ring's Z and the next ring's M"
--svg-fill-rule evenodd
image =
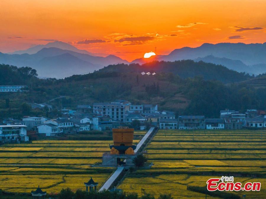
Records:
M139 140L134 140L137 143ZM91 167L110 151L112 141L42 140L0 147L0 189L30 193L38 185L47 193L62 188L85 190L84 182L93 177L99 187L115 168Z

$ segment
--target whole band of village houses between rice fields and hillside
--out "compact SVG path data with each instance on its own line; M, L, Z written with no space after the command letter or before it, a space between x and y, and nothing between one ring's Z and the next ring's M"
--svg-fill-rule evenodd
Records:
M47 106L47 105L45 105ZM48 107L48 106L47 106ZM7 118L0 126L0 141L27 141L29 134L56 136L60 133L77 133L91 130L111 130L121 125L133 125L137 120L140 130L149 126L160 129L242 129L243 127L266 128L265 111L247 110L245 114L235 110L221 110L220 118L203 115L180 115L158 111L157 105L132 105L126 100L110 103L78 105L77 110L61 110L62 117L25 116L22 120Z

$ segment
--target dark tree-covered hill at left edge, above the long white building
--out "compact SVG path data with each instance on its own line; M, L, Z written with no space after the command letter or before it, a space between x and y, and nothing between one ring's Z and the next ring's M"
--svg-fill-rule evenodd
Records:
M36 79L37 71L30 67L9 66L0 64L0 85L24 85Z

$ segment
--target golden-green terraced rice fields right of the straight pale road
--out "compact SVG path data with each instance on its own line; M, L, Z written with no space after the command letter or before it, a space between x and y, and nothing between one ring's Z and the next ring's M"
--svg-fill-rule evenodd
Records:
M234 176L234 182L261 182L257 192L229 192L246 198L266 198L266 131L159 130L148 144L150 169L138 169L118 188L158 197L205 198L187 186L205 187L210 178ZM210 195L207 198L215 198Z

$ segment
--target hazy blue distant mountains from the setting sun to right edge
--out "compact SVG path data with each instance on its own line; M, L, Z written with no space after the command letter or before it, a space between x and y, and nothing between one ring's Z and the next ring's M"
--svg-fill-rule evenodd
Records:
M266 43L205 43L197 48L175 49L169 55L135 59L132 63L143 64L153 60L176 61L186 59L221 64L238 72L261 74L266 72Z

